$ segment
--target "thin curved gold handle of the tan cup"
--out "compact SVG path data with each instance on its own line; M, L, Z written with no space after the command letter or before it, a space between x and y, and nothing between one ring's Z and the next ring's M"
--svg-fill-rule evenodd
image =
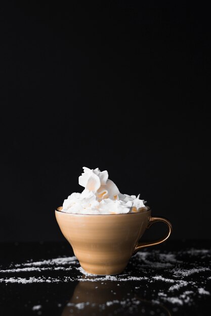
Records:
M166 220L163 217L151 217L147 226L147 229L150 228L150 226L156 222L163 222L165 223L165 225L167 226L167 233L160 239L157 239L155 241L143 241L140 242L136 245L133 254L136 254L137 251L139 251L140 249L144 248L144 247L150 247L150 246L154 246L154 245L158 245L161 242L165 241L166 239L168 239L168 237L171 235L172 233L172 224L170 223L170 221Z

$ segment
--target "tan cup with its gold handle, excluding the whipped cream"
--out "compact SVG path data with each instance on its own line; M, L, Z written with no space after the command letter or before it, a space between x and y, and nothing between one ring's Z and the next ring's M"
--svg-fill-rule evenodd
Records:
M151 217L149 207L143 212L109 215L71 214L59 207L55 213L80 266L96 275L121 273L134 253L165 241L172 231L168 220ZM158 221L167 225L166 235L153 242L139 243L145 230Z

